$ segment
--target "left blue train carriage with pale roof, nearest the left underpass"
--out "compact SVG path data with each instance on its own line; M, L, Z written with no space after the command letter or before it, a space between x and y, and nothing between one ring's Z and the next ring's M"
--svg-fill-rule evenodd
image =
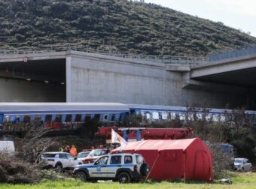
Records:
M47 129L70 128L91 119L114 125L129 113L130 109L119 103L0 103L0 129L26 129L32 122Z

